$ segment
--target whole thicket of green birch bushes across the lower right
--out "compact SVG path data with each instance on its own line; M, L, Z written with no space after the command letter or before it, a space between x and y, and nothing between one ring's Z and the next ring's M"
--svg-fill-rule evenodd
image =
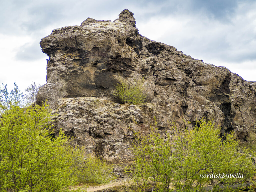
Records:
M134 145L133 177L137 188L146 191L203 191L206 185L230 185L244 182L253 176L255 166L250 152L239 148L233 133L221 141L220 129L211 121L202 120L200 126L181 133L173 127L174 135L163 138L157 127L149 137L141 137ZM140 143L140 144L139 144ZM210 177L211 174L243 174L243 178ZM201 175L201 176L200 176ZM202 177L208 175L208 177Z

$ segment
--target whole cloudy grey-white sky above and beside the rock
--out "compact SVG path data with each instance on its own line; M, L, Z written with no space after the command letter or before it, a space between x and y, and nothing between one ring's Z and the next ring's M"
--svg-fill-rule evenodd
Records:
M87 17L134 13L139 33L256 81L256 0L0 0L0 83L46 83L41 38Z

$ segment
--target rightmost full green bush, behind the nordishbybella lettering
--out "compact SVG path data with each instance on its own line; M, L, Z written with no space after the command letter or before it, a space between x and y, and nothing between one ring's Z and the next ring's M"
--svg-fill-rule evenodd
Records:
M222 142L219 136L220 128L215 128L215 124L211 121L202 120L200 126L195 126L194 130L188 131L186 134L186 148L189 152L188 156L196 158L200 168L204 168L199 172L203 174L220 174L225 173L242 173L243 178L228 178L217 177L202 179L198 178L198 174L194 178L197 179L197 184L201 180L208 180L212 186L218 183L230 185L234 182L244 182L247 178L253 176L253 162L249 151L239 149L239 141L234 137L233 132L226 135L226 140Z

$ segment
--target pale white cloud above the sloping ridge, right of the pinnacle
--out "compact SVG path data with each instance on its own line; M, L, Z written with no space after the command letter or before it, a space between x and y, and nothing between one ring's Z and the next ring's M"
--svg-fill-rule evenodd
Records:
M229 22L198 12L153 17L137 27L151 40L172 45L213 65L221 63L244 79L256 81L255 9L256 2L240 3L234 10L236 17Z

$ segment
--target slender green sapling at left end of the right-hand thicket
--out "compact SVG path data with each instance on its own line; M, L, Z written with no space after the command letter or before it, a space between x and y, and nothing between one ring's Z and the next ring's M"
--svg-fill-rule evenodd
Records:
M137 188L147 191L151 187L154 191L161 182L158 190L169 191L175 167L175 159L170 158L170 137L161 137L157 128L151 127L149 137L137 138L137 145L134 144L132 150L135 155L133 178Z

